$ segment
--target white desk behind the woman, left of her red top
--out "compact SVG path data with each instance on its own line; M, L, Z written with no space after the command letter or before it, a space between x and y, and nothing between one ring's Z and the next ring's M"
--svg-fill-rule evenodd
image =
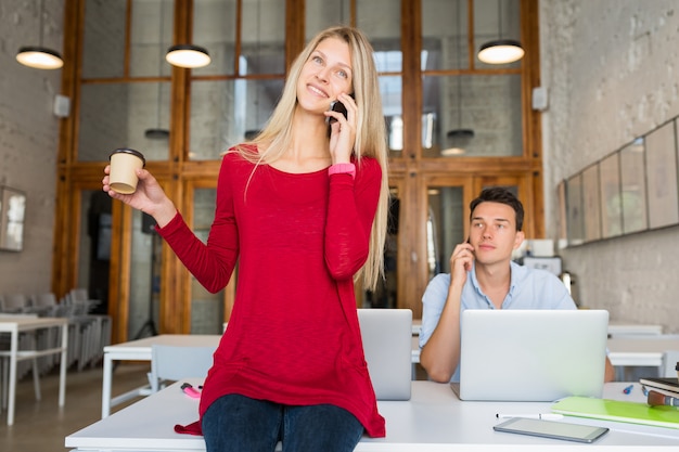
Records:
M138 396L149 396L151 393L150 386L142 386L112 398L111 383L113 380L113 361L151 361L151 347L154 344L183 347L205 347L217 346L220 338L220 335L163 334L159 336L145 337L139 340L104 347L101 417L104 418L111 414L111 406L115 406Z

